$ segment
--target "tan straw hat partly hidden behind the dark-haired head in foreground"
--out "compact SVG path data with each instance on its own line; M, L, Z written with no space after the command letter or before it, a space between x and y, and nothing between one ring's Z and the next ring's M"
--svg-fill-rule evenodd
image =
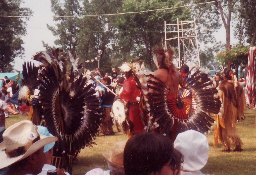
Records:
M126 142L127 140L115 143L114 148L111 151L104 151L102 152L102 155L111 164L124 168L124 147Z

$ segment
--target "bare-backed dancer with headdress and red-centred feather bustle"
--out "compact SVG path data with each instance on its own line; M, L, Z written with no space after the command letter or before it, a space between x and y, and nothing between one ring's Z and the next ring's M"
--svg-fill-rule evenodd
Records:
M156 54L158 53L158 55ZM186 130L199 130L207 134L214 119L207 113L218 113L219 98L216 88L205 89L212 84L203 73L196 71L189 79L183 79L172 60L173 51L158 50L153 59L158 67L148 75L147 85L141 82L145 105L149 111L147 130L167 135L172 141ZM200 80L200 81L199 81Z

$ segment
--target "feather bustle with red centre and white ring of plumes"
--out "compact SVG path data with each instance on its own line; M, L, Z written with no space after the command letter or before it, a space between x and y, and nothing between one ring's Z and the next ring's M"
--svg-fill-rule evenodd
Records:
M154 75L148 75L147 90L144 90L145 106L149 111L147 130L155 130L173 139L185 130L197 130L207 134L212 129L213 117L208 113L219 113L221 102L215 98L216 88L204 73L195 72L179 86L178 96ZM151 93L149 93L151 92ZM175 133L173 133L173 130Z

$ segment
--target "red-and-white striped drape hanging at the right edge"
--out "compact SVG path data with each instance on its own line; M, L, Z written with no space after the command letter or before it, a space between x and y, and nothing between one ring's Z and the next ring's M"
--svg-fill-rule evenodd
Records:
M248 55L248 72L246 76L246 101L249 105L255 105L255 80L256 80L256 65L255 65L255 57L256 57L256 47L250 47L249 55Z

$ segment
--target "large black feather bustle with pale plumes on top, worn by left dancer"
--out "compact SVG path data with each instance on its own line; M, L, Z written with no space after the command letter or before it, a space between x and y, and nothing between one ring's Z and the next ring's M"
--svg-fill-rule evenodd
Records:
M91 88L93 84L78 75L80 64L76 53L69 53L72 68L68 72L68 59L61 52L55 49L34 55L34 60L43 64L37 76L38 97L32 98L32 104L39 111L40 125L59 139L54 145L52 164L72 173L72 161L81 149L95 144L102 110Z

